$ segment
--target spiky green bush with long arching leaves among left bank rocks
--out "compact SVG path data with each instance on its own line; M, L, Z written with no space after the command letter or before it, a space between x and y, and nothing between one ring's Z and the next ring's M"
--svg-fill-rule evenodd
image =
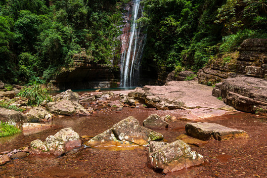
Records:
M21 89L17 96L28 98L28 105L40 105L45 100L52 101L47 90L42 89L38 84Z

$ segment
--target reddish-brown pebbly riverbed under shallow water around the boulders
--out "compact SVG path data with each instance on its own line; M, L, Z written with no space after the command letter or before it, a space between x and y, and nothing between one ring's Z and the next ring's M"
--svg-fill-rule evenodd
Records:
M21 133L0 139L0 152L29 146L31 141L42 141L60 129L71 127L75 132L89 137L102 133L117 122L133 116L141 124L150 114L179 117L184 110L156 110L140 105L139 108L124 107L120 112L114 108L97 108L88 117L55 117L49 124L53 127L38 133ZM200 167L162 175L146 165L147 147L134 150L108 150L80 147L61 157L28 156L13 159L0 166L2 178L230 178L267 176L267 118L243 112L214 117L202 122L218 123L226 127L246 131L248 139L226 141L209 140L201 147L192 146L204 156ZM169 129L155 130L164 135L165 141L173 142L185 134L187 121L170 121Z

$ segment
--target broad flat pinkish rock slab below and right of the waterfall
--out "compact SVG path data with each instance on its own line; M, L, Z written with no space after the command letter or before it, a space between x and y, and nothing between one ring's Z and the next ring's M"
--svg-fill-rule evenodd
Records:
M234 110L223 101L212 96L212 87L196 81L172 81L165 86L144 86L128 94L128 98L144 101L159 110L210 108Z

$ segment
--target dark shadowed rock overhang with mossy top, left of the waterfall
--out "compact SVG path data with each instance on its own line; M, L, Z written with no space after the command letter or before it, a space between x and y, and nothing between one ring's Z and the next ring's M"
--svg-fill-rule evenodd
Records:
M62 71L51 81L57 89L95 89L116 88L119 86L120 73L116 68L97 64L87 55L85 49L73 55L72 68Z

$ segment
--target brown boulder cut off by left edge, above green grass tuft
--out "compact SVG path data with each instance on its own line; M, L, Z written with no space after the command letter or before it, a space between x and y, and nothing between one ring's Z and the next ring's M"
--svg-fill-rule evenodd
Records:
M12 125L19 125L28 122L27 116L12 109L0 108L0 120Z

